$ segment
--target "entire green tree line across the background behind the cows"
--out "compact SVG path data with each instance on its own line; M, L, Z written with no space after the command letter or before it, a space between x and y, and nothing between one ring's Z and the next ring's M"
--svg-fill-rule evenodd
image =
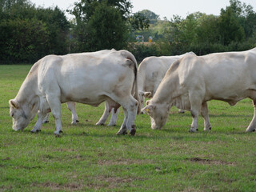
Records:
M130 0L80 0L72 10L0 0L0 63L112 48L130 50L141 61L150 55L202 55L256 46L256 13L238 0L230 0L219 16L198 12L165 21L150 10L132 14L132 8ZM74 19L69 21L65 11ZM134 35L143 33L152 35L154 43L134 43Z

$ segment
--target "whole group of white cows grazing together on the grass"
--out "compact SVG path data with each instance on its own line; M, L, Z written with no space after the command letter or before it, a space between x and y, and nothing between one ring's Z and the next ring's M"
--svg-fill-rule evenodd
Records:
M145 98L151 98L144 106ZM101 50L63 56L48 55L32 66L18 94L9 101L13 129L23 130L38 114L32 132L41 130L51 112L54 134L62 133L61 103L67 102L72 124L78 122L75 102L105 110L97 125L112 112L114 126L119 107L124 121L118 134L136 133L137 114L150 115L151 128L161 129L171 106L190 110L191 132L198 130L198 115L204 118L204 130L210 130L207 102L215 99L234 106L251 98L254 117L246 132L256 129L256 48L197 56L193 52L178 56L145 58L139 65L127 50Z

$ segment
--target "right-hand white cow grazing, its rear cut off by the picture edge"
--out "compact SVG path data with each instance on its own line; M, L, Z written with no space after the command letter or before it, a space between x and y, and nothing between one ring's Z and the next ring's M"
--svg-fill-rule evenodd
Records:
M198 130L198 114L204 118L204 130L210 130L207 101L212 99L234 106L251 98L254 118L246 132L256 128L256 48L242 52L186 55L174 62L162 79L154 97L143 108L151 118L151 128L161 129L171 106L190 110L190 131Z

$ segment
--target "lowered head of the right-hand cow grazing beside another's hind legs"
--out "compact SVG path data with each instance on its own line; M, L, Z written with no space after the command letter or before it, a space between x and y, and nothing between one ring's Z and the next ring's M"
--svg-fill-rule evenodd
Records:
M150 102L150 100L146 102L146 107L142 109L142 111L150 115L151 128L153 130L160 130L166 124L169 110L170 105L156 104Z

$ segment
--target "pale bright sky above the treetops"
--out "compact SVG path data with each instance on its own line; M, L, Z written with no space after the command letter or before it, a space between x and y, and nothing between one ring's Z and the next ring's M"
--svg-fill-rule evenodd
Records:
M71 9L74 7L74 2L78 0L30 0L36 6L51 7L58 6L62 10ZM134 8L133 13L140 10L150 10L154 14L158 14L160 18L166 17L168 20L172 18L174 14L186 18L187 14L192 14L194 12L202 12L206 14L219 15L222 8L230 5L230 0L130 0ZM254 7L256 12L256 0L240 0L240 2L245 2L246 5L251 5ZM71 15L66 14L68 18Z

